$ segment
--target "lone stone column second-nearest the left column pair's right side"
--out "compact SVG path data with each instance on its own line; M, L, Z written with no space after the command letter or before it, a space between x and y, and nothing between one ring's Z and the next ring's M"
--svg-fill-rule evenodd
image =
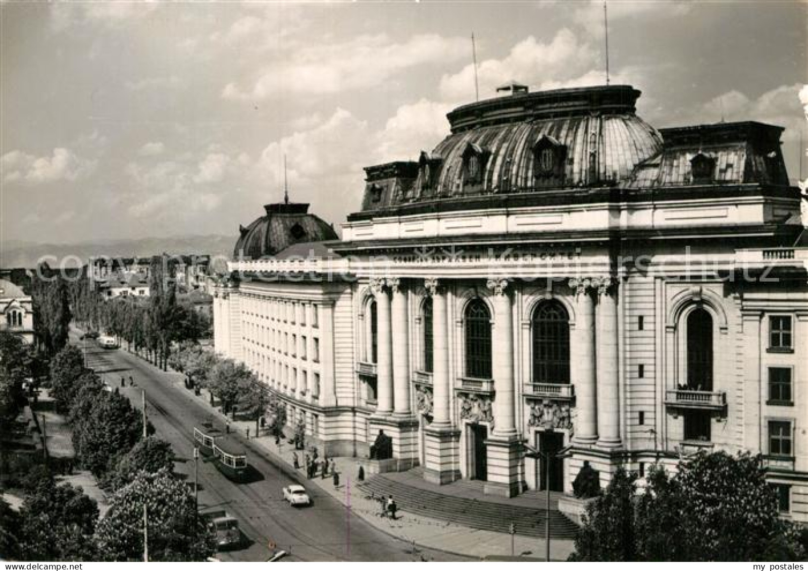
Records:
M450 426L449 398L449 346L446 292L438 280L427 279L424 283L432 296L432 426Z

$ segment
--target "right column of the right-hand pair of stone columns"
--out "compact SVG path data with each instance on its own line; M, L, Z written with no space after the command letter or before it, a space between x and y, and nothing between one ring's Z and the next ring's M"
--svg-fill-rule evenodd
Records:
M598 446L614 448L620 439L620 377L617 361L617 283L596 280Z

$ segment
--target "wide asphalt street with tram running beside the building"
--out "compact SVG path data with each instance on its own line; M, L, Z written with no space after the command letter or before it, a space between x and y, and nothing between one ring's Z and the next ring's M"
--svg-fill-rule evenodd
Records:
M133 376L135 386L124 388L123 393L140 406L141 389L145 389L149 421L157 435L174 448L178 462L177 472L187 474L193 481L193 439L195 424L216 418L211 410L194 397L191 391L171 386L165 373L124 350L105 350L95 342L80 342L71 334L78 346L85 345L87 366L93 367L112 388L120 388L120 377ZM181 385L180 385L181 386ZM221 422L220 422L221 424ZM247 461L255 468L255 477L248 483L229 481L212 464L199 462L200 511L227 510L238 518L246 535L248 546L217 555L224 561L266 561L267 548L274 542L278 548L290 552L289 561L458 561L458 556L425 550L416 555L411 545L365 523L325 493L306 486L313 506L292 508L284 501L281 489L292 483L279 468L260 457L246 446ZM327 481L324 485L331 485Z

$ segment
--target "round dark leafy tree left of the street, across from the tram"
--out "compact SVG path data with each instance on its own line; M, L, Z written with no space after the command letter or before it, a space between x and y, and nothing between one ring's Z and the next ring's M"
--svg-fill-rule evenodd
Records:
M120 393L100 391L77 399L70 414L73 443L82 465L96 477L112 468L141 438L141 415Z

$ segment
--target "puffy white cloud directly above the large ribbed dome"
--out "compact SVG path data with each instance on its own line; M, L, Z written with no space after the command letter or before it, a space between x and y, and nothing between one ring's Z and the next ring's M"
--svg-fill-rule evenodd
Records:
M480 93L494 94L503 83L516 80L536 86L548 81L565 82L579 77L595 65L595 51L581 42L569 28L559 30L549 44L535 37L520 41L503 59L490 59L478 65ZM449 101L469 101L474 93L474 68L466 65L460 72L440 79L440 94Z

